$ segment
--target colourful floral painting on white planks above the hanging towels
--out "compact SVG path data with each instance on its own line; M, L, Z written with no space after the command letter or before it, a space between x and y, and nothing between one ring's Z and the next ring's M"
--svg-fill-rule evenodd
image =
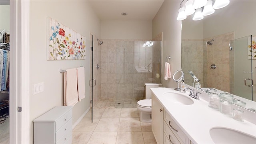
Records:
M48 17L48 60L84 60L85 37Z

